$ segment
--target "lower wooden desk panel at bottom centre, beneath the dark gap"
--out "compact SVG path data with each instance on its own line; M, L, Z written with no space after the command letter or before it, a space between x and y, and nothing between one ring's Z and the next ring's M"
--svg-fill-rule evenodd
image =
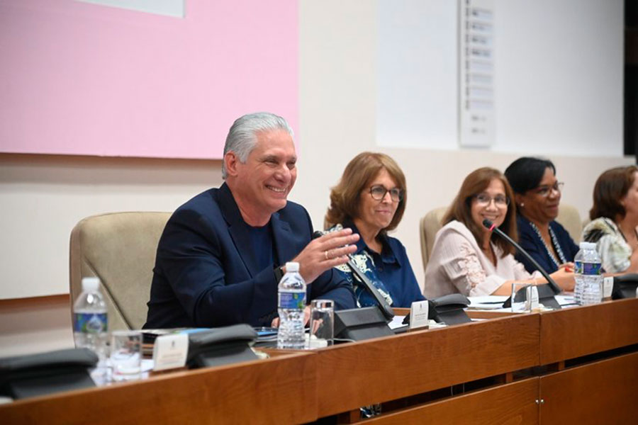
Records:
M366 420L375 425L537 424L538 378L471 392Z

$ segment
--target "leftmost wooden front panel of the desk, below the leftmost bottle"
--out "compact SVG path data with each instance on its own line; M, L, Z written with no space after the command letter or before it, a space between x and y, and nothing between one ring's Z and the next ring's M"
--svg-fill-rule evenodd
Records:
M293 424L316 419L315 356L295 353L18 400L3 424ZM295 402L289 402L289 400Z

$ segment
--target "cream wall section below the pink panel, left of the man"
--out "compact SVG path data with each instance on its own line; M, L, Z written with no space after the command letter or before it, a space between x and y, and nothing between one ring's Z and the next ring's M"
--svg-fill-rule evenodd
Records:
M69 236L112 211L172 211L221 183L220 161L0 155L0 298L69 290Z

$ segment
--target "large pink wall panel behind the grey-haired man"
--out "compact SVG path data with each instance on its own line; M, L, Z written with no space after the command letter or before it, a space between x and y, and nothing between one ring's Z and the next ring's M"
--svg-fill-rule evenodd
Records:
M254 111L297 129L295 0L0 0L0 152L220 158Z

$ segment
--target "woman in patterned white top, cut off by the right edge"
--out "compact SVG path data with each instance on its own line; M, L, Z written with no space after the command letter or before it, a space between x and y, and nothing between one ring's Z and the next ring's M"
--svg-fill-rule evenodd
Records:
M591 222L583 241L594 242L609 273L638 273L638 167L620 166L598 177Z

